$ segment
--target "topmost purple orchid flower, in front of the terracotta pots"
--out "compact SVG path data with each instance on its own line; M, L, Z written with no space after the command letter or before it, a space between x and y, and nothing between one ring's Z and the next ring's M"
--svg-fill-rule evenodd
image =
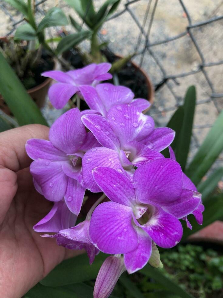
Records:
M110 63L90 64L77 70L67 72L45 71L42 76L52 78L58 83L49 88L49 100L56 109L62 109L69 99L79 92L81 85L97 85L100 81L109 80L112 75L107 73Z

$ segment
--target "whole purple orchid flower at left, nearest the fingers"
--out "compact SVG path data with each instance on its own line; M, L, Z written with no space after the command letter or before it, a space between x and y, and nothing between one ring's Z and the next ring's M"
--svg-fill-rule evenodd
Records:
M69 210L78 215L86 189L81 160L86 151L98 145L93 134L86 133L77 108L64 113L50 128L49 141L27 141L36 189L50 201L64 198Z

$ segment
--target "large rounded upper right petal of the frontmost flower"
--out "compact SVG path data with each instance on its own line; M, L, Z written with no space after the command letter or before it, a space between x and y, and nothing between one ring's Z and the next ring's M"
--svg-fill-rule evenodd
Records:
M174 202L182 192L181 167L169 158L156 159L142 165L135 171L133 181L138 182L138 200L145 204L149 201Z

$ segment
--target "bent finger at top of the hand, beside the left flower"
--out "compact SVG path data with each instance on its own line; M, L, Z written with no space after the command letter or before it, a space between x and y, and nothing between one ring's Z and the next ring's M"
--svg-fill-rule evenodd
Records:
M0 168L17 172L30 165L31 159L25 151L27 140L48 139L49 127L30 124L0 133Z

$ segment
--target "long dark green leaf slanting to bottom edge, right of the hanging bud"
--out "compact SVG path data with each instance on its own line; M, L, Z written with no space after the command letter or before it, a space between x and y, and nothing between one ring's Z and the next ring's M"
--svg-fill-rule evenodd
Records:
M192 296L184 291L180 286L178 286L173 280L169 279L164 275L160 269L154 268L150 265L146 265L143 269L140 270L141 274L154 279L161 285L165 286L171 293L179 295L181 298L192 298Z

